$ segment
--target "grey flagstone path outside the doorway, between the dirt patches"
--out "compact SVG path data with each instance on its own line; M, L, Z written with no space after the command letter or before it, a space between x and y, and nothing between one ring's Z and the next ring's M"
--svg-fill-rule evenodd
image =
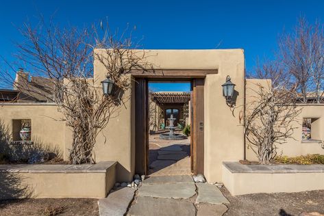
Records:
M101 216L220 216L228 200L208 183L191 176L151 176L136 189L120 187L99 200Z

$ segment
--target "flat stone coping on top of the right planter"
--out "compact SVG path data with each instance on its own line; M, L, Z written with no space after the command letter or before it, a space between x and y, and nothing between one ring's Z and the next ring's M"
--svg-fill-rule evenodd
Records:
M223 162L223 165L232 173L317 173L324 172L323 164L271 164L271 165L244 165L239 162Z

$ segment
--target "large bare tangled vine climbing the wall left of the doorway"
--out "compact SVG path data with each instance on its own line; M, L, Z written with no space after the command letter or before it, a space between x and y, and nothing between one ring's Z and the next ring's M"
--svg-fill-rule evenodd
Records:
M61 120L73 131L69 156L73 164L95 163L93 148L97 135L128 98L123 92L131 87L131 82L125 75L149 67L145 53L134 49L131 31L112 33L102 23L101 32L97 29L61 29L43 22L36 27L25 24L21 29L25 42L18 44L17 57L33 75L47 78L46 92L52 94L44 94L42 87L20 85L14 82L9 70L1 71L3 81L14 83L16 89L41 94L57 103ZM118 94L102 94L93 77L94 61L103 65ZM10 67L14 70L14 66ZM27 79L25 82L30 84Z

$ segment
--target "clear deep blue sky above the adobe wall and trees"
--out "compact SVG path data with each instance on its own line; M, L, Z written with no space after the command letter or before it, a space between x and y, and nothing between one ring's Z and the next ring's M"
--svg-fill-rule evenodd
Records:
M311 23L324 20L324 1L1 1L0 55L10 59L17 27L35 16L55 14L60 25L82 27L108 18L111 27L136 25L136 37L146 49L245 50L246 68L257 57L272 57L277 36L290 31L299 15ZM10 59L11 60L11 59ZM164 90L164 89L161 89Z

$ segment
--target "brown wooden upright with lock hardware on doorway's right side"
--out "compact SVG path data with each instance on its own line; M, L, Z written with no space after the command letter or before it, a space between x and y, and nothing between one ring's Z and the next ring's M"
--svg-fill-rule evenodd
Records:
M191 172L203 174L204 161L204 113L203 113L203 84L204 79L194 79L191 87L190 100L190 154Z

